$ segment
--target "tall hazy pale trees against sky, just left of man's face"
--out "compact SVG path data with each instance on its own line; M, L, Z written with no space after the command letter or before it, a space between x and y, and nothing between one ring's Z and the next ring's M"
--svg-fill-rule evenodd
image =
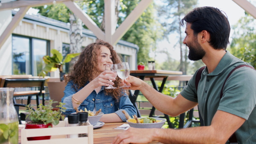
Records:
M180 49L179 70L186 75L186 68L189 65L187 61L188 49L183 44L185 35L180 26L180 20L197 5L198 0L163 0L161 3L158 14L162 17L162 26L166 29L164 36L169 40L168 36L170 34L177 34L177 46Z

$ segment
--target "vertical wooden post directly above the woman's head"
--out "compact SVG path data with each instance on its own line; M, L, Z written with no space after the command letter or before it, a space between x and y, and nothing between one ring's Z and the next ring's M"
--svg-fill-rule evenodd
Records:
M104 0L105 7L105 40L113 44L112 35L116 31L115 0Z

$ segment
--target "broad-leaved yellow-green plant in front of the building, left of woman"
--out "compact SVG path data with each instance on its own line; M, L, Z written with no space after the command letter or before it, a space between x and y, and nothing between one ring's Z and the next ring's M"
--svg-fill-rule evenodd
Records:
M63 60L63 56L62 56L62 54L60 52L58 52L58 50L52 49L51 53L53 54L52 57L50 57L49 55L45 55L43 57L43 60L44 60L44 63L46 63L46 66L39 73L39 76L43 76L44 77L44 76L46 76L47 72L54 72L57 69L59 69L59 71L60 71L60 78L63 77L64 74L63 74L62 66L65 63L70 62L70 60L72 60L72 58L75 58L76 56L78 56L80 54L80 53L67 54L67 56Z

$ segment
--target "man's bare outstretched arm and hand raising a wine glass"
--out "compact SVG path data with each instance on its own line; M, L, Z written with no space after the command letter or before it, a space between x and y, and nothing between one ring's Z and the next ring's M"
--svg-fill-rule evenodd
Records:
M177 116L180 113L186 112L189 109L195 107L198 103L192 102L184 98L182 95L177 95L176 98L172 98L168 95L164 95L153 87L145 83L145 81L140 80L139 78L129 76L126 82L131 87L129 89L137 90L143 93L145 98L159 111L170 115Z

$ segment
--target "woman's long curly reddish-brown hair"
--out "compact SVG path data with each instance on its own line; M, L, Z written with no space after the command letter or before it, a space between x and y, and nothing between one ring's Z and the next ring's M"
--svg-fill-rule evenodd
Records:
M66 76L66 82L73 81L74 89L78 90L84 87L87 81L92 81L95 77L95 74L99 72L98 70L98 51L101 46L106 46L111 52L113 64L121 63L121 59L116 51L113 49L113 46L105 42L103 40L96 40L95 43L90 43L86 46L81 54L79 55L79 59L74 64L73 70L69 75ZM116 81L114 81L115 87L117 89L105 89L106 94L110 94L113 98L116 98L118 101L122 96L122 93L125 92L123 89L119 89L119 85L121 84L121 79L116 77Z

